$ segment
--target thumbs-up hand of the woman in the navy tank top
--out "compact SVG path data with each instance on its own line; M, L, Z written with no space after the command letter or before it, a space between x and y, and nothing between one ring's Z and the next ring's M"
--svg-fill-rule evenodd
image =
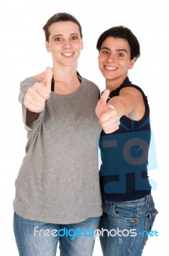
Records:
M114 106L107 104L110 91L106 89L96 106L96 115L99 118L99 124L106 134L112 133L119 129L119 117Z

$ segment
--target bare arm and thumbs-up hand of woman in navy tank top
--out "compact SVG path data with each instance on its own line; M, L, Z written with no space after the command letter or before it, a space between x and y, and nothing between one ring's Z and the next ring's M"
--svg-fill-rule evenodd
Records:
M121 116L125 115L133 120L140 120L143 117L145 105L142 93L137 89L131 87L123 88L119 96L113 97L107 104L109 93L109 90L105 90L96 106L96 115L105 133L111 133L119 129Z

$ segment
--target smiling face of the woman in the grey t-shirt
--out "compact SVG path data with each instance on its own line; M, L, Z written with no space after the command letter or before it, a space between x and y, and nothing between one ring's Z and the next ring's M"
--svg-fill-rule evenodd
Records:
M53 23L48 30L50 35L48 42L46 41L46 47L52 54L54 65L77 64L83 49L78 25L71 21L59 21Z

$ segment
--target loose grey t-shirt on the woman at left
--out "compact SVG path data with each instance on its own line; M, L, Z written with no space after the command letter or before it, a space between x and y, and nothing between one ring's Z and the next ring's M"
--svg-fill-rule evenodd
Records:
M29 77L20 86L27 145L15 181L14 211L29 220L59 224L101 216L99 88L82 77L76 92L51 92L45 109L27 126L24 95L36 82Z

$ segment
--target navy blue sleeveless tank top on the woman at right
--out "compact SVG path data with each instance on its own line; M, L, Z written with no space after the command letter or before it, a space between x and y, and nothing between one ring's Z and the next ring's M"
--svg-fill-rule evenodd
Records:
M119 88L112 91L108 100L118 96L122 88L134 87L142 93L145 114L139 121L122 116L119 129L111 134L101 132L99 170L101 195L114 202L142 198L151 193L147 174L151 125L149 104L142 89L129 81L128 77Z

